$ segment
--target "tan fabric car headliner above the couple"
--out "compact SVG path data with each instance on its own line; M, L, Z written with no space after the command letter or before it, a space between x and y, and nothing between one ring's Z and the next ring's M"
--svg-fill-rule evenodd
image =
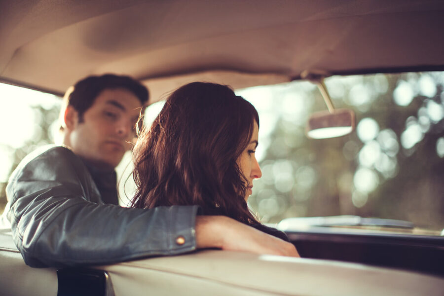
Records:
M16 0L0 11L0 81L59 95L110 72L142 80L155 101L195 80L444 69L442 0Z

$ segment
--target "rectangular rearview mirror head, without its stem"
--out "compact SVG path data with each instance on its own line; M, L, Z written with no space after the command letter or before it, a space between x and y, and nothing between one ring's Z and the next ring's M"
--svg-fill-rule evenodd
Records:
M355 129L355 112L349 109L319 111L308 118L307 137L328 139L350 134Z

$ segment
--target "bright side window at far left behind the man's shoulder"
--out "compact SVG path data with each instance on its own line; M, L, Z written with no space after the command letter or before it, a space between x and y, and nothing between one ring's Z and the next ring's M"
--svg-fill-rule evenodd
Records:
M0 212L10 173L28 153L54 142L61 103L54 95L0 83Z

